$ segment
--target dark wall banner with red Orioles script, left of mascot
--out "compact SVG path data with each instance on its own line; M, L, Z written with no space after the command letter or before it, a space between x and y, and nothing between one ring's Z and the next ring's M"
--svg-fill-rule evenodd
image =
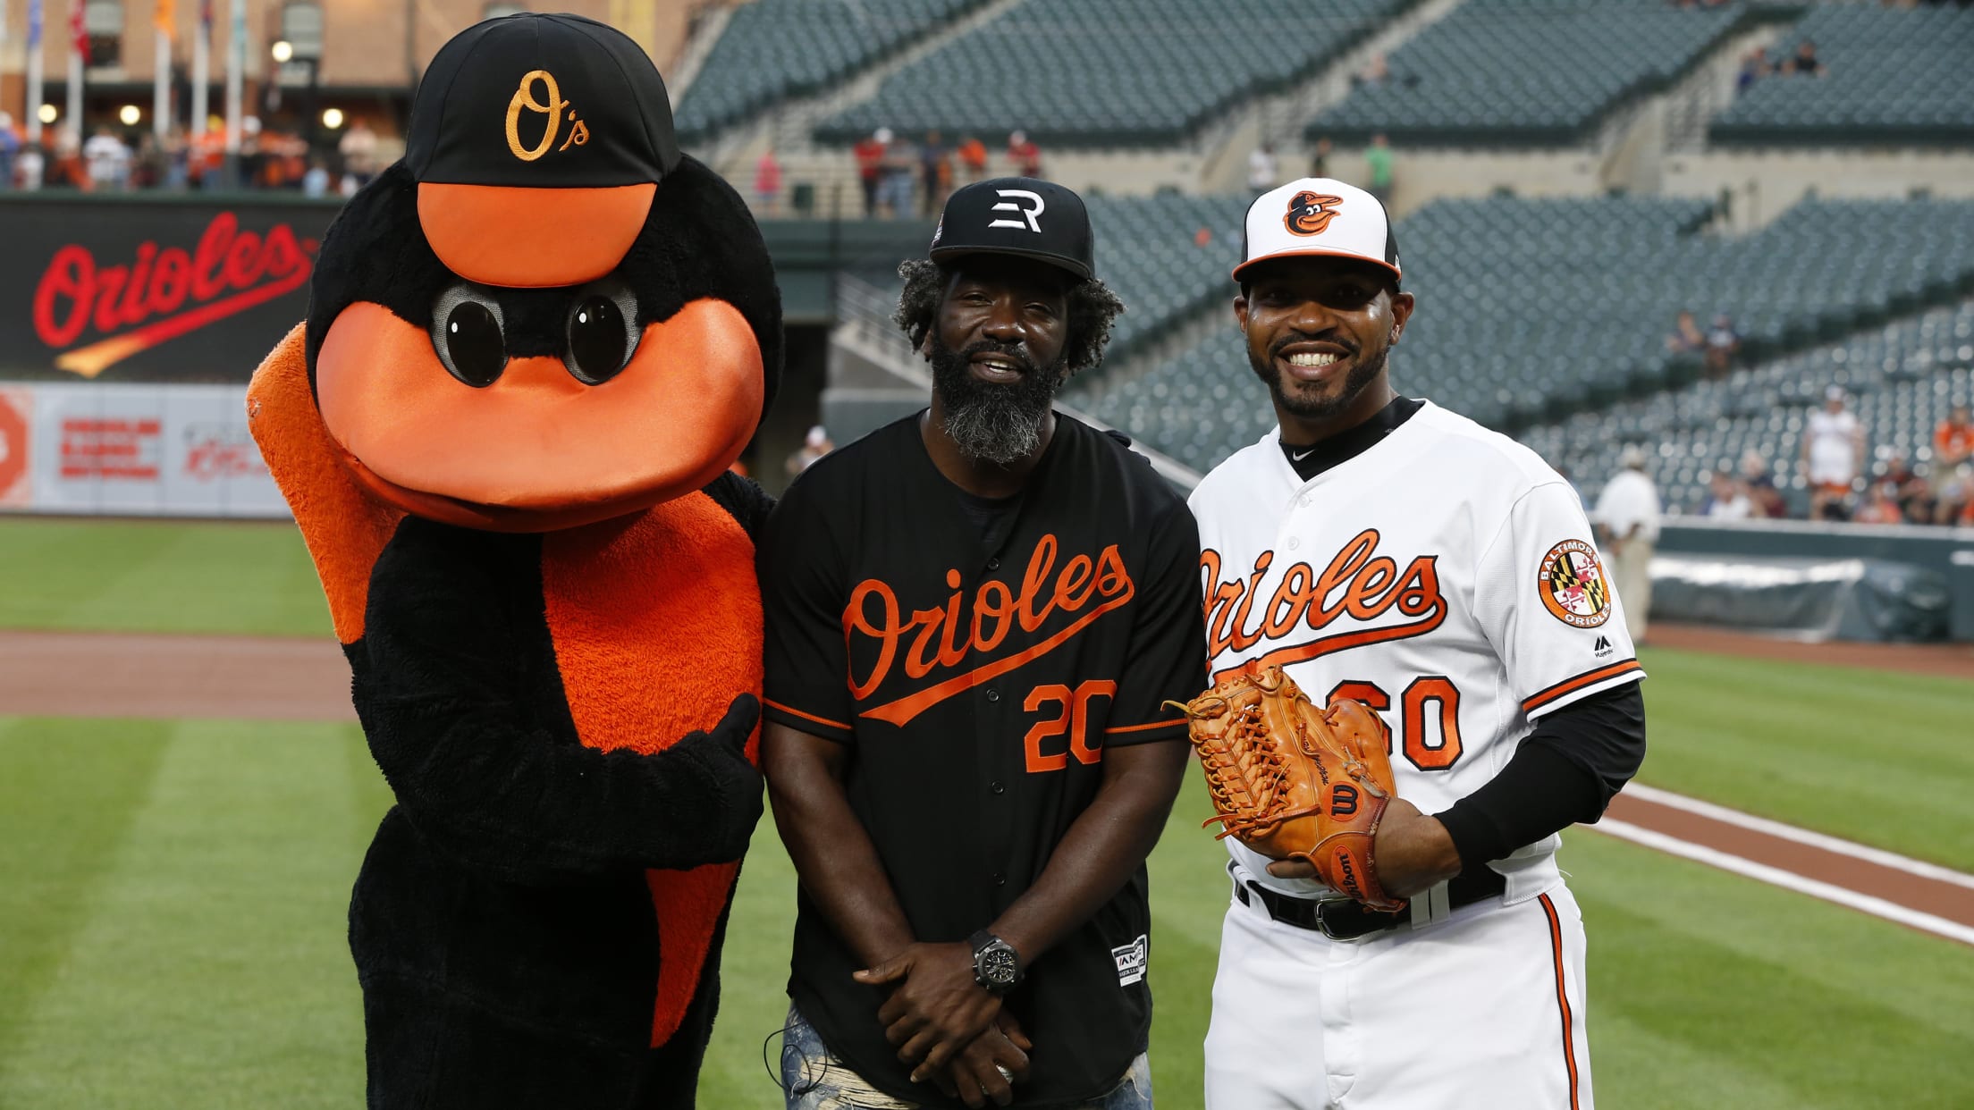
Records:
M308 312L336 211L0 194L0 379L245 383Z

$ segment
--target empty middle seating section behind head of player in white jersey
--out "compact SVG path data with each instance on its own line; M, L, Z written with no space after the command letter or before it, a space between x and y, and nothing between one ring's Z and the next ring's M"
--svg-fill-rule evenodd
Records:
M1974 203L1806 199L1745 237L1708 217L1631 198L1419 209L1398 227L1419 310L1394 383L1512 431L1690 379L1664 346L1680 310L1725 312L1763 359L1974 290ZM1273 423L1232 332L1068 399L1200 468Z

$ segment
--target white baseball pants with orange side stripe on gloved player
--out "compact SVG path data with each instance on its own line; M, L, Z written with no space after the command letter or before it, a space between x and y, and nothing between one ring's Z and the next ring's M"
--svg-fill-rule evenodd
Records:
M1583 914L1569 889L1329 940L1234 899L1208 1110L1591 1110Z

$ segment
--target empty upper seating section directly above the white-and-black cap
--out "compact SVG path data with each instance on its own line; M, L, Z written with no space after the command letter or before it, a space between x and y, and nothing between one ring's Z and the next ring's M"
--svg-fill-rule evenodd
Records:
M1638 0L1467 0L1309 122L1309 138L1563 146L1666 87L1751 16Z

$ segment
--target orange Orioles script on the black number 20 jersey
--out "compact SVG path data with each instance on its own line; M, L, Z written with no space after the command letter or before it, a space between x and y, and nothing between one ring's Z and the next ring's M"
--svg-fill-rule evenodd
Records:
M861 717L902 727L955 693L1054 652L1096 618L1129 604L1131 595L1137 593L1115 543L1096 559L1072 555L1058 571L1054 535L1044 535L1034 545L1028 569L1021 575L1021 593L997 579L981 583L973 591L971 618L961 616L967 598L959 589L959 571L946 571L946 587L953 591L946 604L910 614L898 604L898 593L882 579L865 579L851 591L851 600L843 608L843 638L853 648L859 636L876 642L876 662L871 664L871 674L857 677L851 672L851 697L863 701L876 693L890 677L892 668L900 666L900 660L904 675L910 679L949 672L949 677L865 709ZM1070 620L1048 638L1021 652L967 666L969 660L991 656L1013 628L1019 626L1023 632L1034 634L1050 622L1050 616L1058 614Z

